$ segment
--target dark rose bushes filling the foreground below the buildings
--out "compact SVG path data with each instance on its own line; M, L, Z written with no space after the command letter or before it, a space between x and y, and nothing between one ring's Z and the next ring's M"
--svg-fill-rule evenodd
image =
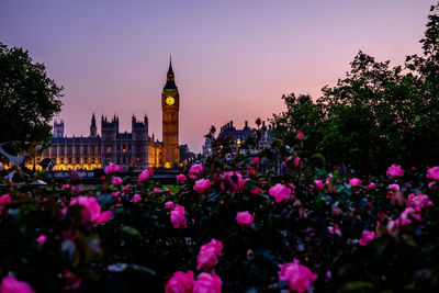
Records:
M392 166L393 177L374 187L315 169L311 158L296 164L303 154L277 140L259 161L213 157L172 190L132 176L119 184L116 170L101 187L86 188L77 177L63 187L4 182L0 194L12 202L0 204L0 278L12 273L36 292L160 292L177 271L200 274L201 247L218 239L214 272L225 292L288 289L279 264L316 274L316 292L437 290L439 174L427 179L426 170ZM269 168L258 172L262 161ZM195 183L205 181L206 191L196 192ZM395 183L399 191L390 189ZM291 195L277 198L275 185ZM415 201L416 194L427 195ZM100 214L112 218L101 223L72 205L81 195L95 198ZM185 227L175 228L169 202L184 207ZM251 224L237 221L246 211ZM364 230L376 235L368 239ZM37 240L42 235L45 241Z

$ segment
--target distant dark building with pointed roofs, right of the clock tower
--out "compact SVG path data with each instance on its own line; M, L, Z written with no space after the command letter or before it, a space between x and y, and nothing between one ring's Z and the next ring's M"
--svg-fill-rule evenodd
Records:
M256 147L250 147L250 149L249 149L250 153L252 153L252 154L257 154L261 149L270 147L271 143L273 140L273 137L272 137L270 131L266 126L266 122L262 122L262 127L259 131L261 134L261 138L260 138L258 145ZM248 121L245 122L243 129L237 129L234 126L233 121L230 121L221 127L219 134L216 137L216 139L219 139L219 140L225 140L227 138L232 139L232 154L230 155L235 155L238 151L239 146L244 142L246 142L249 137L256 138L255 136L256 136L256 133L248 126ZM202 147L203 155L205 157L207 157L210 154L212 154L213 147L214 147L213 139L210 137L206 137L204 140L204 145Z

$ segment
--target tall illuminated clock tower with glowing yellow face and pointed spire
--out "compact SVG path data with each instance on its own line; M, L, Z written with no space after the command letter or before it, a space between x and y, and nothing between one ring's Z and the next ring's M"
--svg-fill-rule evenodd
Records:
M172 61L169 61L166 84L161 92L164 166L170 168L180 162L179 144L179 108L180 97L172 71Z

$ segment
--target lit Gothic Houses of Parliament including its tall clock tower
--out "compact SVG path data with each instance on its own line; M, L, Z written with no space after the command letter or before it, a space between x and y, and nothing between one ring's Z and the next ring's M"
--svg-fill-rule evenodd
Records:
M36 158L37 161L52 159L54 170L92 170L108 164L121 165L124 169L134 167L169 168L180 162L179 158L179 106L180 97L175 81L172 64L169 63L166 84L161 92L162 142L148 134L148 117L132 117L132 132L119 131L119 116L101 117L101 134L94 113L91 116L88 137L64 135L64 121L54 123L50 146ZM32 165L26 166L32 168ZM41 169L41 166L36 167Z

